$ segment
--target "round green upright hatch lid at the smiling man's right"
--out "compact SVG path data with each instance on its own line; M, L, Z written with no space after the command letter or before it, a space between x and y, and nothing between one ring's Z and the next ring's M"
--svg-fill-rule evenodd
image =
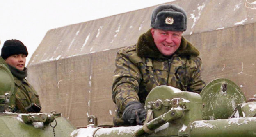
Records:
M238 104L246 101L240 88L225 78L219 78L207 84L200 95L204 120L227 119Z

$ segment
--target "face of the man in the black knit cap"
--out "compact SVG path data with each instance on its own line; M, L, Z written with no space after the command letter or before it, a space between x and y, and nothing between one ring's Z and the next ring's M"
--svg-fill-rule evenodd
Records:
M23 71L26 64L26 55L25 54L11 55L5 60L5 62L10 66L15 67L16 69Z

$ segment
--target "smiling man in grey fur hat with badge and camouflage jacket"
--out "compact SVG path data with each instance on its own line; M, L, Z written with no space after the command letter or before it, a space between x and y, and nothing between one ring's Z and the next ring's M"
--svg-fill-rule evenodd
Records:
M156 86L201 92L205 86L201 59L199 51L182 36L186 29L187 15L181 7L160 5L151 15L151 29L137 44L118 51L112 86L117 104L115 126L142 125L145 99Z

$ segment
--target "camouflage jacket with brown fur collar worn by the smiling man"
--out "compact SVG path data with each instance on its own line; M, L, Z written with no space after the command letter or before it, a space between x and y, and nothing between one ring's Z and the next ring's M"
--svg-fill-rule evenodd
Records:
M119 50L112 86L112 99L117 104L114 124L122 123L128 102L144 104L156 86L168 85L200 93L205 83L201 80L198 55L199 51L182 37L178 50L171 57L165 57L155 46L150 30L139 37L137 44Z

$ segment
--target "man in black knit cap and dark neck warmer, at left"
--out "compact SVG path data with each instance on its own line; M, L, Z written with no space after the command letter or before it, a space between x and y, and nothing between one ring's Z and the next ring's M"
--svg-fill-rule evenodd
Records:
M9 106L12 112L38 113L41 110L39 97L25 79L27 77L25 67L27 55L26 46L19 40L7 40L2 47L1 57L8 64L15 83Z

